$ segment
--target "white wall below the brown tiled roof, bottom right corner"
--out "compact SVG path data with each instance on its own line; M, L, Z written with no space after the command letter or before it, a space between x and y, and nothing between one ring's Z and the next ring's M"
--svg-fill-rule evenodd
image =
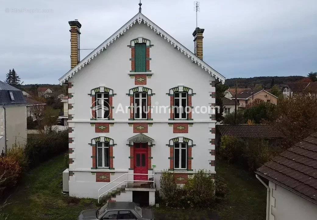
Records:
M269 182L270 220L316 220L317 205L295 193Z

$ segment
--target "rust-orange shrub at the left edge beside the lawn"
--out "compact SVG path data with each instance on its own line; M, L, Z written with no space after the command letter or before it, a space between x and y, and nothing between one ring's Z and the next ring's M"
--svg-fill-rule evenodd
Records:
M16 185L21 167L14 158L0 157L0 198L3 190Z

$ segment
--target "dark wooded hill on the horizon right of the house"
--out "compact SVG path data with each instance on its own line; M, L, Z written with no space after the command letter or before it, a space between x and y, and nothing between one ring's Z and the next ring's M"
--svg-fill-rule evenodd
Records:
M235 82L238 81L238 88L252 88L262 86L263 88L270 89L271 85L279 85L295 82L298 80L307 79L304 76L261 76L261 77L252 77L252 78L232 78L226 79L225 85L228 85L230 88L235 86Z

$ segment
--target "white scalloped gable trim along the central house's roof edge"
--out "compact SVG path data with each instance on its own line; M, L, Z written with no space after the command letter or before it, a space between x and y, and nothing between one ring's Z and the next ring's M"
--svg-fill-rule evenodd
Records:
M87 57L85 57L79 64L74 66L73 69L69 70L66 74L64 74L60 79L60 84L64 83L68 80L68 78L72 77L76 72L78 72L82 67L87 65L92 59L100 54L104 49L106 49L111 43L113 43L117 38L123 35L126 31L129 30L136 23L141 24L142 22L146 24L149 28L151 28L155 33L159 34L162 38L164 38L167 42L169 42L173 47L177 48L180 52L184 53L192 62L195 62L198 66L208 72L211 76L215 77L222 83L224 83L225 77L221 75L219 72L214 70L210 65L206 64L203 60L198 58L193 52L188 50L185 46L179 43L177 40L171 37L168 33L163 31L159 26L154 24L150 19L145 17L141 12L136 14L130 21L128 21L125 25L123 25L118 31L116 31L110 38L104 41L101 45L99 45L93 52L91 52Z

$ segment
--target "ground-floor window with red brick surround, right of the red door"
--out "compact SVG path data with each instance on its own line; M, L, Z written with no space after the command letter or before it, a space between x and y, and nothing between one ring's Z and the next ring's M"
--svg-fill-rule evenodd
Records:
M193 170L191 166L193 159L192 147L195 145L191 139L186 137L172 138L167 146L170 148L169 170Z

